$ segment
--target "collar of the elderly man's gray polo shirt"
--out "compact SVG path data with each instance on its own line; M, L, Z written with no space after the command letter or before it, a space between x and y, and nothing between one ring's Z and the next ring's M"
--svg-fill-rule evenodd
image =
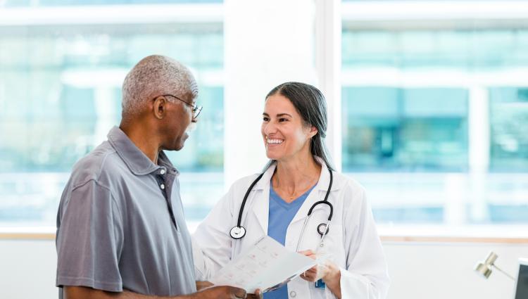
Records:
M150 174L159 170L161 167L166 167L168 170L178 173L163 151L158 155L159 165L154 164L119 127L113 127L107 136L108 142L110 142L111 146L133 174Z

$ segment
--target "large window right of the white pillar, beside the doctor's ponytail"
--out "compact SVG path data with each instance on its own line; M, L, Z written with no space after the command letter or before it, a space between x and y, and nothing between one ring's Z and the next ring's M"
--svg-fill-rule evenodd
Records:
M528 31L343 27L343 169L377 221L527 223Z

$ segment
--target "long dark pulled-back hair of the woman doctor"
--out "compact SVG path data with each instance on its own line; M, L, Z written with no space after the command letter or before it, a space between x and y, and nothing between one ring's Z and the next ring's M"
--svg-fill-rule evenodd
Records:
M318 134L310 140L310 153L322 158L327 167L334 170L330 163L329 154L325 145L327 136L328 116L327 103L322 92L310 84L301 82L286 82L272 89L266 99L275 94L288 98L294 104L297 113L301 115L304 125L313 126L318 129ZM271 160L266 165L265 170L270 167L275 160Z

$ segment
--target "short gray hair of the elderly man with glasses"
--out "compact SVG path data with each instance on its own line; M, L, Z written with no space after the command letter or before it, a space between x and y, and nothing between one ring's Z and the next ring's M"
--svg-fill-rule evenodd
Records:
M172 58L152 55L143 58L128 72L122 84L122 115L136 115L150 100L163 94L198 96L191 71ZM168 97L170 101L171 98ZM173 100L177 101L177 100Z

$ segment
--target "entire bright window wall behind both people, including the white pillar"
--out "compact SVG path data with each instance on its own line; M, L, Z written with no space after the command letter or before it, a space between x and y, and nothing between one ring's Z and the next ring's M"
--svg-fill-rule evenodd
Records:
M243 15L261 7L245 2L0 1L20 13L0 15L0 227L54 226L73 163L119 123L122 79L152 53L189 65L199 81L198 129L169 153L184 172L189 222L205 217L225 182L265 164L254 107L276 84L300 80L328 98L341 91L339 105L329 101L329 148L366 187L380 224L526 224L526 20L504 17L509 6L497 1L374 2L341 3L336 83L327 68L335 51L325 48L336 40L327 34L332 22L320 22L329 1L311 4L326 5L315 18L307 5L276 27L265 14ZM476 6L491 15L475 16ZM28 7L46 14L26 18ZM240 26L250 19L254 27ZM266 36L279 27L287 34Z

